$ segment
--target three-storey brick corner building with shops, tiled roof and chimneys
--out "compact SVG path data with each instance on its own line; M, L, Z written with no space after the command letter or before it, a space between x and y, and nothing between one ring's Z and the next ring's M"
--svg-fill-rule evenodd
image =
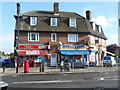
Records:
M54 3L53 7L53 11L20 13L19 28L18 15L14 15L15 53L24 57L20 61L41 57L55 66L66 56L78 59L84 57L86 61L97 61L100 64L103 51L106 51L107 38L102 27L91 20L91 11L86 11L86 17L83 17L75 12L59 11L59 3Z

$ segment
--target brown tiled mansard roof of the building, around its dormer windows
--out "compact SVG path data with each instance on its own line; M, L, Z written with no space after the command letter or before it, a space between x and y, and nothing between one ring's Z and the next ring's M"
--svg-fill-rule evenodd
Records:
M75 12L59 12L59 15L54 15L53 11L29 11L21 13L22 17L21 30L24 31L48 31L48 32L76 32L76 33L89 33L94 36L98 36L103 39L107 39L101 30L101 33L97 30L92 29L91 23L89 20L85 19L83 16ZM38 25L32 27L29 25L29 16L38 16ZM50 26L50 17L58 17L58 25L55 27ZM69 18L77 19L77 27L69 27ZM17 30L17 27L16 27Z

